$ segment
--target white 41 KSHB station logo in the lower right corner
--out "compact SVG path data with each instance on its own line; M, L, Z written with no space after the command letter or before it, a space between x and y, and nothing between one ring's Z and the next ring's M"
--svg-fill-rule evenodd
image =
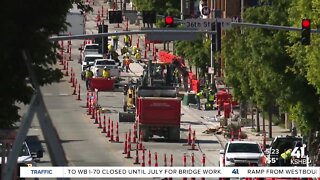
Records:
M307 165L311 163L308 155L306 154L306 144L303 144L302 147L295 147L291 152L291 164L292 165Z

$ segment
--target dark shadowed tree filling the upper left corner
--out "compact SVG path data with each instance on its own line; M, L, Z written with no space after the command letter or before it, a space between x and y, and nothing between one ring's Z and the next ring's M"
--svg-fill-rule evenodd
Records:
M34 92L22 57L27 50L40 85L58 82L62 72L53 65L59 58L58 43L48 37L66 30L66 15L75 2L84 11L91 10L80 0L4 1L0 43L0 128L10 128L20 118L17 103L28 104ZM5 16L8 15L8 16Z

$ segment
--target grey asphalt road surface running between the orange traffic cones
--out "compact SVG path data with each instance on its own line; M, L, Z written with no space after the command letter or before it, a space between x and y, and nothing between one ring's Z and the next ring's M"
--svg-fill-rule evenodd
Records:
M97 3L96 3L97 5ZM96 8L96 7L95 7ZM95 32L94 18L88 17L87 32ZM112 26L109 26L110 32ZM133 43L137 42L138 36L133 37ZM121 38L120 38L121 39ZM141 41L140 41L141 42ZM141 166L141 164L134 165L134 158L125 158L123 152L124 134L132 129L132 123L119 123L119 137L120 143L109 142L106 134L101 133L101 129L94 124L90 116L87 115L85 106L86 90L84 81L80 80L81 66L78 64L79 51L78 47L83 41L72 41L72 61L69 61L69 67L72 67L75 72L77 82L81 86L81 101L76 100L77 96L72 95L73 88L68 82L70 76L64 77L60 83L53 83L42 88L42 93L46 106L49 110L51 119L60 136L62 146L64 148L66 157L70 166ZM64 43L66 44L66 43ZM122 44L120 43L120 47ZM143 47L141 43L141 47ZM148 52L150 54L151 52ZM63 68L61 65L57 65ZM134 63L131 64L131 73L122 73L123 76L139 76L142 72L142 65ZM65 72L65 71L64 71ZM70 74L70 71L69 71ZM105 114L110 117L114 123L118 121L118 112L122 112L123 94L121 89L115 92L100 92L99 104L108 109ZM207 115L211 115L206 112ZM217 137L213 135L202 134L204 130L211 126L209 123L201 118L202 114L195 112L194 109L182 108L182 123L181 123L181 140L177 143L165 142L162 138L155 138L149 142L144 143L146 147L146 163L148 161L147 153L151 152L152 164L155 165L154 155L158 155L158 165L164 166L164 154L167 157L167 164L170 164L169 157L173 155L173 166L183 166L183 156L186 154L186 166L192 166L191 156L195 157L195 166L202 166L201 159L203 154L206 156L206 166L217 166L218 151L221 149L221 144ZM205 114L204 114L205 115ZM212 114L213 115L213 114ZM189 150L190 146L187 144L187 129L192 125L192 129L196 130L197 144L195 151ZM42 144L45 153L44 157L38 163L39 166L50 166L50 158L43 139L41 129L35 118L32 127L28 133L29 136L36 136ZM135 145L133 144L133 149ZM141 151L139 151L141 158ZM131 152L131 156L135 156L135 151ZM141 162L141 159L140 159ZM208 178L206 178L208 179Z

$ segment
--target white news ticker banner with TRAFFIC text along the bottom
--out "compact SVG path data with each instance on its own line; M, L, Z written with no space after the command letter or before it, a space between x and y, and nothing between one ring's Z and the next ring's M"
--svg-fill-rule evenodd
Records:
M264 177L318 178L319 167L21 167L24 178Z

